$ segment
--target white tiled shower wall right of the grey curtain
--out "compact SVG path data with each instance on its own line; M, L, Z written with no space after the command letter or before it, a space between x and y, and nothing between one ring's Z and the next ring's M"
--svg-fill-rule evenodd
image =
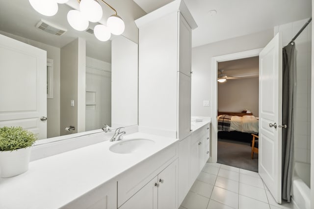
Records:
M286 46L308 19L276 26L282 31ZM296 161L311 162L311 44L312 23L295 40L296 100L294 107L294 157Z

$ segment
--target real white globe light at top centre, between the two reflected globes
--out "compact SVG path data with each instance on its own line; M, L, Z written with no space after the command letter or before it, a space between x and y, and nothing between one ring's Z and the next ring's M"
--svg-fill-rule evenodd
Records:
M103 8L95 0L81 0L79 3L79 10L92 23L100 21L103 17Z

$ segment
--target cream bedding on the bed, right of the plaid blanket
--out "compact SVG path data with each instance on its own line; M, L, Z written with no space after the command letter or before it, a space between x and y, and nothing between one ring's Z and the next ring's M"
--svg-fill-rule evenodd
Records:
M218 116L218 118L220 115ZM259 132L259 120L253 115L232 116L230 131L240 131L246 133Z

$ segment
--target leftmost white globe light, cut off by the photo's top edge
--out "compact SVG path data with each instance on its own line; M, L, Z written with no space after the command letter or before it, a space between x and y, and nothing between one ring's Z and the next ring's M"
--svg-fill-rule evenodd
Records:
M58 11L58 3L55 0L29 0L30 5L40 14L53 16Z

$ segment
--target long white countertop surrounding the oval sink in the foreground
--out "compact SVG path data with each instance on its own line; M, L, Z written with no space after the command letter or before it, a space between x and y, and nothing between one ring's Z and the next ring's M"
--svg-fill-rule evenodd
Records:
M60 208L178 141L141 132L123 140L131 138L156 144L142 152L116 154L109 146L121 141L105 141L32 161L26 173L0 178L0 209Z

